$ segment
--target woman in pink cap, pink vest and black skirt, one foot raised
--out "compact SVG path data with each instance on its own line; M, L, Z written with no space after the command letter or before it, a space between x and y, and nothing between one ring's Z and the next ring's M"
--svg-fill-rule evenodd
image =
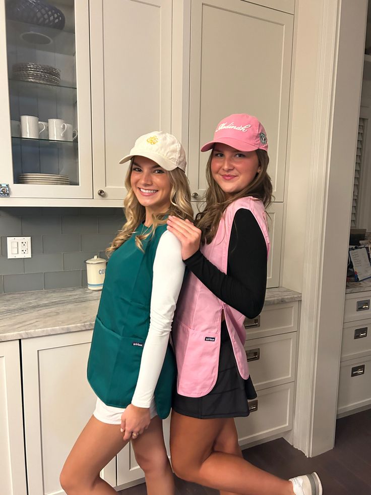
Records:
M201 151L210 149L206 207L196 225L176 216L167 221L191 271L172 333L178 371L172 466L181 478L221 495L322 495L317 473L280 479L245 461L238 446L233 418L248 416L248 399L257 397L243 321L261 312L265 298L265 208L272 196L267 135L256 117L234 114Z

